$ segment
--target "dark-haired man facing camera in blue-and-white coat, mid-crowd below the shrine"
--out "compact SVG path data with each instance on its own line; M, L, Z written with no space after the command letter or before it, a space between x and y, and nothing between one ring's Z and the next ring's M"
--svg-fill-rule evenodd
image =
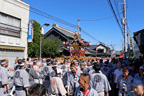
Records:
M71 63L70 65L71 71L68 73L68 79L67 79L67 93L68 95L74 95L74 92L76 88L79 86L78 80L81 74L81 71L78 71L76 69L76 66L74 63Z

